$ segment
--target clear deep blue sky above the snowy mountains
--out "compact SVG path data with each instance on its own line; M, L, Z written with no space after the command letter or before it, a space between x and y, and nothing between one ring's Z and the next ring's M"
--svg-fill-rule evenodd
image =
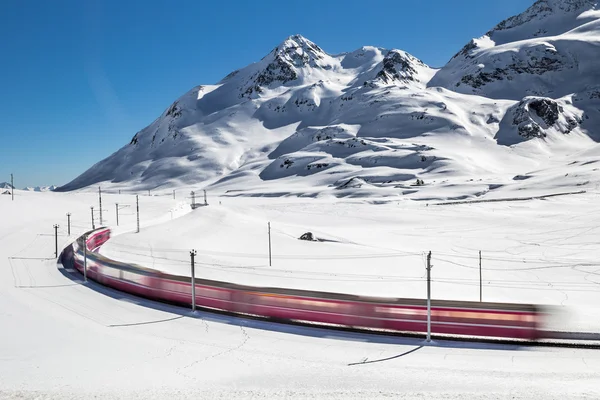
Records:
M292 34L442 66L533 0L24 0L0 11L0 182L65 184L177 97Z

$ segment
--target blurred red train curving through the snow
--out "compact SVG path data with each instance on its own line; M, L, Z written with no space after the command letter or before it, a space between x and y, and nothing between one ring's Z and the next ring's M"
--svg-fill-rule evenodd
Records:
M110 238L102 228L87 234L88 250ZM74 244L73 261L83 271L83 236ZM87 276L115 289L190 305L191 278L111 260L88 253ZM304 321L360 329L426 332L427 306L421 299L374 298L338 293L251 287L196 279L199 307L277 320ZM535 305L432 300L434 334L537 339L543 313Z

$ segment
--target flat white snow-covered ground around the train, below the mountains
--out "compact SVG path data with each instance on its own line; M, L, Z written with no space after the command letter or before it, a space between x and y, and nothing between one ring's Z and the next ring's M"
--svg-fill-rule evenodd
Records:
M65 213L72 214L72 238L89 229L97 194L15 194L14 202L0 197L0 398L600 396L597 351L423 346L416 339L192 315L83 284L55 263L52 226L60 224L61 245L69 241ZM127 210L135 198L105 194L109 226L115 203L130 206L105 251L184 273L186 266L175 260L187 262L187 251L196 248L201 276L418 296L424 292L422 252L431 250L435 297L475 300L482 250L485 300L564 300L576 311L598 304L597 196L426 206L209 193L210 205L193 212L183 199L140 196L142 231L133 234L127 232L135 229L135 215ZM295 239L308 230L332 241ZM145 254L146 245L153 258L134 254Z

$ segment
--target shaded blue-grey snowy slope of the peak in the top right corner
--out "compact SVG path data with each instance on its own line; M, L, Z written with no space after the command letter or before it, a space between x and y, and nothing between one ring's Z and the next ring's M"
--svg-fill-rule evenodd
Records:
M514 100L597 90L597 4L597 0L538 0L469 42L429 85Z

